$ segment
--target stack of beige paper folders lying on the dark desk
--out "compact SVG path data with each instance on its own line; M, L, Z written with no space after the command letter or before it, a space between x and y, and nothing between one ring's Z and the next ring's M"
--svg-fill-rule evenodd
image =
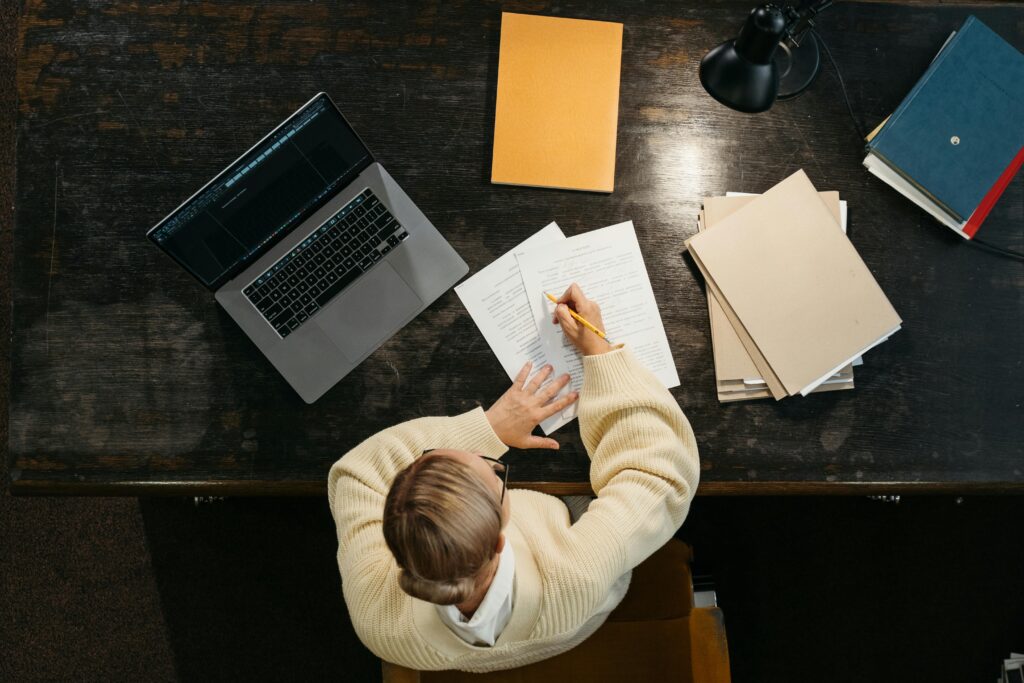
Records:
M845 213L803 171L761 196L705 200L686 245L708 285L720 400L852 389L860 356L899 330Z

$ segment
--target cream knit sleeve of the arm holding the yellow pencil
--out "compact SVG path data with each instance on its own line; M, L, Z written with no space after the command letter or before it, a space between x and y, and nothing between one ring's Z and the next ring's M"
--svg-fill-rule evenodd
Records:
M696 441L676 399L627 348L584 358L580 431L597 500L573 527L578 551L613 582L682 524L699 479Z

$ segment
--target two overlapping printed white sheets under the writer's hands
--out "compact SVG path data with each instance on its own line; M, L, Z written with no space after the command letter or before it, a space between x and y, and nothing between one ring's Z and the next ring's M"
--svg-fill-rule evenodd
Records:
M583 360L551 323L555 296L577 283L601 306L609 341L625 343L667 388L679 386L676 364L640 254L632 221L566 238L550 223L455 291L513 379L528 360L568 373L564 392L583 386ZM550 434L575 418L575 405L541 423Z

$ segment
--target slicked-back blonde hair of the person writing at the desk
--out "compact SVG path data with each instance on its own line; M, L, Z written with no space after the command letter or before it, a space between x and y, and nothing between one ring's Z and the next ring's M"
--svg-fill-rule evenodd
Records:
M468 600L494 557L502 506L469 466L425 455L395 477L384 502L384 540L409 595L438 605Z

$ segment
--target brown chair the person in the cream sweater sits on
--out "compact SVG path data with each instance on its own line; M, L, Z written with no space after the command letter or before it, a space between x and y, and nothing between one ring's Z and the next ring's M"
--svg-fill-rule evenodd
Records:
M729 683L722 611L693 606L690 558L689 546L670 541L634 569L630 590L608 621L558 656L489 674L417 672L382 663L384 683Z

